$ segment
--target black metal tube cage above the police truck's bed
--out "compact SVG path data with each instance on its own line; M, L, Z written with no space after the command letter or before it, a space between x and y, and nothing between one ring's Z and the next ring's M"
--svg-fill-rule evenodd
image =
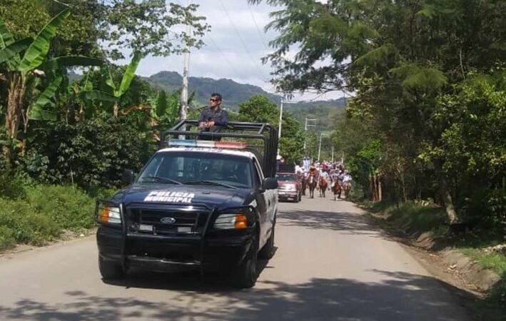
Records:
M208 132L198 130L198 121L182 120L176 123L169 130L162 130L160 135L160 146L165 147L168 139L203 139L213 140L213 138L242 138L255 139L263 142L262 170L265 177L274 178L276 174L276 156L278 153L278 131L269 123L241 123L230 122L219 132Z

